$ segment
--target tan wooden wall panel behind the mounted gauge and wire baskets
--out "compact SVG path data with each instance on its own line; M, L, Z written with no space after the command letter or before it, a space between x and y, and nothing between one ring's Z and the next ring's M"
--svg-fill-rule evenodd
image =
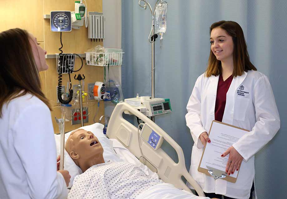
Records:
M95 12L102 12L102 0L86 0L88 4L88 12L89 11L95 11ZM75 1L71 0L43 0L43 14L50 14L53 10L75 10ZM50 30L50 20L44 19L44 40L45 40L45 50L47 51L47 54L55 54L60 53L59 48L61 47L60 43L60 33L58 32L51 32ZM103 42L94 42L90 41L88 39L88 28L85 28L84 26L80 27L79 30L72 29L71 32L63 32L62 33L62 43L63 43L63 53L77 53L82 54L88 49L95 47L96 45L103 45ZM94 67L94 66L88 66L84 65L82 69L79 72L74 72L71 74L71 82L72 85L79 84L79 81L74 79L75 75L78 75L79 73L82 75L85 75L85 87L84 90L88 90L88 84L89 83L95 83L95 81L103 81L104 77L104 67ZM51 105L53 106L53 111L51 112L51 117L53 121L54 131L56 133L59 132L58 125L55 121L56 118L61 118L61 111L57 104L57 98L56 98L56 86L58 85L58 74L56 71L56 59L46 59L46 62L49 66L49 69L45 71L45 81L46 81L46 97L50 100ZM81 65L80 59L76 57L75 61L75 70L79 69ZM67 87L67 81L69 81L69 75L63 74L62 75L62 85ZM70 86L70 85L69 85ZM93 124L93 118L95 115L95 109L97 106L97 103L95 100L88 100L89 102L89 123L84 123L84 125ZM100 109L98 117L96 118L96 121L98 121L98 118L101 115L104 115L105 108L104 103L100 102ZM83 106L86 106L87 102L85 100L85 103L83 103ZM91 106L94 105L94 106ZM78 125L71 125L70 122L65 123L65 132L71 131L75 128L80 127L80 124Z

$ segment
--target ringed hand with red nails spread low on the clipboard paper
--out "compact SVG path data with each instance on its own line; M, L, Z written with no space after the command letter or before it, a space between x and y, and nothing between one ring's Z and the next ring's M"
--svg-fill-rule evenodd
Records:
M221 157L225 157L229 154L228 162L226 164L225 171L228 175L233 174L235 169L236 171L239 170L241 166L241 162L243 160L243 157L237 152L237 150L231 146L229 149L227 149Z

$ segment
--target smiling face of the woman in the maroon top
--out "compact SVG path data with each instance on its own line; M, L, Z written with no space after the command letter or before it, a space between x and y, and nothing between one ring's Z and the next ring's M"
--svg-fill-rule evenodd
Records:
M210 34L211 50L217 60L226 62L233 60L234 44L232 37L225 30L217 27Z

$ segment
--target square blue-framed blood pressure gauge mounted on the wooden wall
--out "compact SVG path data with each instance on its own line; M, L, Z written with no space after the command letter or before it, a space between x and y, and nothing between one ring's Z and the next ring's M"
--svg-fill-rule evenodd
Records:
M70 32L72 30L71 11L51 11L50 26L52 32Z

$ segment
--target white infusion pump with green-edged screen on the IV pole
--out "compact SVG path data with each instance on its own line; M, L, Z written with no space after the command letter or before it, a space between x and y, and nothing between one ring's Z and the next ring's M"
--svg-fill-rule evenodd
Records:
M171 105L169 99L151 98L149 96L141 96L135 98L124 99L124 102L138 109L147 117L171 113ZM129 111L124 111L126 114L131 114Z

